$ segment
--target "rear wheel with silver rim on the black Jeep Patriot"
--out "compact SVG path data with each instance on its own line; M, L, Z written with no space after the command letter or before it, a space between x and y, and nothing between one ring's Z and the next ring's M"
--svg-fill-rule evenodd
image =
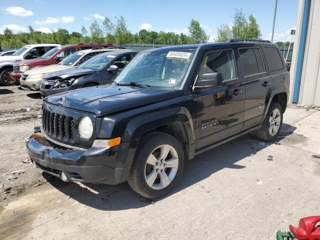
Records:
M251 135L263 140L273 141L282 126L283 111L279 103L272 101L262 123L262 127L251 132Z

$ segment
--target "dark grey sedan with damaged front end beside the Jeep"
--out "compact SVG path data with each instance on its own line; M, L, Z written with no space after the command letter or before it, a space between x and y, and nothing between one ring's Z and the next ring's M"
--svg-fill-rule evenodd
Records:
M42 97L82 87L109 84L137 51L127 49L100 53L77 67L45 75L40 84Z

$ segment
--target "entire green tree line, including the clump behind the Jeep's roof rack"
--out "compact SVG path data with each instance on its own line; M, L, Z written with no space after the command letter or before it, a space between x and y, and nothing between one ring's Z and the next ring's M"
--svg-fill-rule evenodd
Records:
M145 44L192 44L207 42L209 36L201 27L199 21L191 19L188 25L188 34L148 31L141 29L132 33L123 16L115 17L114 21L105 17L101 24L94 20L88 28L81 27L80 32L71 33L64 28L58 28L52 33L36 31L32 26L28 26L28 32L13 33L5 28L0 34L0 45L10 47L20 47L25 44L36 43L59 43L61 45L74 44L79 42L92 43L145 43ZM215 41L226 41L229 38L261 38L261 31L252 14L246 19L242 9L235 9L233 24L221 24L217 28Z

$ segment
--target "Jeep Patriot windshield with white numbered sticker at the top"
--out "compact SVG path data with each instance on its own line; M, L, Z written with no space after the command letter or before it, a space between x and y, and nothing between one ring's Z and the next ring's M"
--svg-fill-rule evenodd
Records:
M135 82L157 88L179 89L194 52L195 49L141 52L123 68L115 82Z

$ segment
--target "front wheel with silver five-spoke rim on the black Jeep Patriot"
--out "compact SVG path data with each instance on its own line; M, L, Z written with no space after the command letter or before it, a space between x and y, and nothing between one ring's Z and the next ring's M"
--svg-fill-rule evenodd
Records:
M176 186L183 165L179 141L167 133L150 132L139 141L127 181L141 196L157 198Z

